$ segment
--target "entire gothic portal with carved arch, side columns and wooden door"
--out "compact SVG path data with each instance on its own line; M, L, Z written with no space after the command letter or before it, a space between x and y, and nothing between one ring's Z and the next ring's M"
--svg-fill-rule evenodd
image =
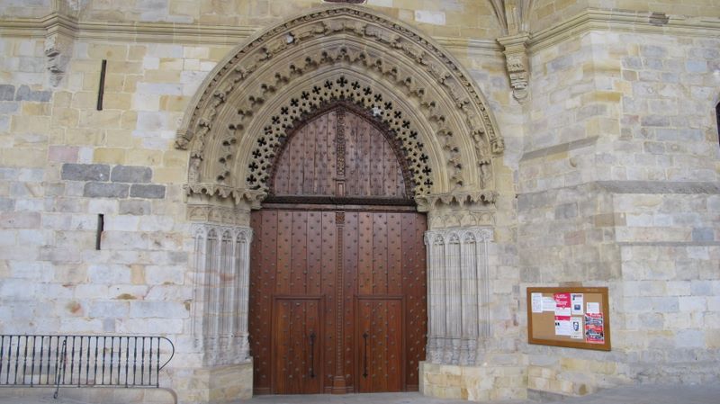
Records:
M504 148L487 105L434 40L362 6L320 7L231 51L175 142L190 153L203 365L255 359L257 392L395 391L417 388L426 352L482 357ZM218 248L215 228L254 247ZM238 327L213 326L228 319Z

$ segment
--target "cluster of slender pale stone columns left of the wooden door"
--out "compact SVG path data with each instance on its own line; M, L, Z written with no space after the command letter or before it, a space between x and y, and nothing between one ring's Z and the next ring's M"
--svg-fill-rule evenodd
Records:
M250 360L247 340L250 242L247 226L195 223L193 337L205 365Z

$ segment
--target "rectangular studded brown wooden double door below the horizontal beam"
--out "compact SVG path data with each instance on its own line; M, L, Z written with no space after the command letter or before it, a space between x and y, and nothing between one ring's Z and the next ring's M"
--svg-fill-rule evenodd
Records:
M412 391L427 333L425 216L264 209L249 329L257 394Z

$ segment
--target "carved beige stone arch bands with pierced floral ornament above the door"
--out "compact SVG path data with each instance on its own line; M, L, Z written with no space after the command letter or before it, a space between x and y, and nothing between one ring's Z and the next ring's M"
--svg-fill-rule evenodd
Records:
M187 193L259 207L287 136L338 102L391 130L421 205L493 202L504 145L472 79L432 40L349 5L258 34L206 78L175 142L191 150Z

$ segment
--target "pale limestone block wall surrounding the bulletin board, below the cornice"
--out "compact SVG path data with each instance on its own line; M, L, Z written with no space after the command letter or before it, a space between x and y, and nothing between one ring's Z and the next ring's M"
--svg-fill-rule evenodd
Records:
M699 31L533 49L521 281L609 286L613 351L527 346L531 389L717 380L717 49Z

